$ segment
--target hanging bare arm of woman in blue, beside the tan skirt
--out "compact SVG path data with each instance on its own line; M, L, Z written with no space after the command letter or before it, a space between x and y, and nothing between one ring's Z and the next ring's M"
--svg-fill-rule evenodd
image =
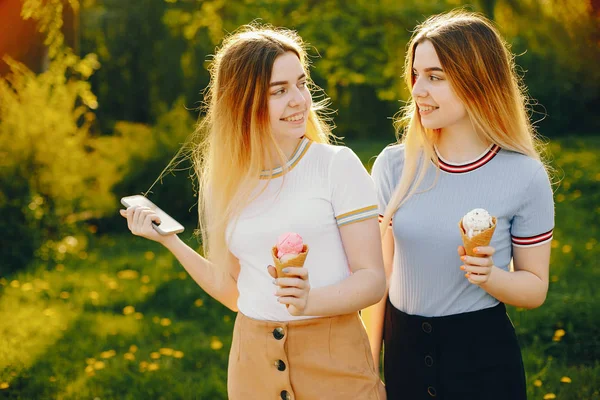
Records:
M394 232L388 228L383 237L383 265L385 266L386 291L383 298L375 305L363 310L362 317L369 334L369 343L375 367L379 371L379 356L381 354L381 343L383 340L383 323L385 320L385 306L390 288L390 278L394 264Z

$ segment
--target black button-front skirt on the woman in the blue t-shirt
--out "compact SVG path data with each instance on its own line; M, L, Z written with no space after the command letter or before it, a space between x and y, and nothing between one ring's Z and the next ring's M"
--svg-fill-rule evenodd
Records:
M388 400L525 400L525 372L504 304L421 317L388 300L384 325Z

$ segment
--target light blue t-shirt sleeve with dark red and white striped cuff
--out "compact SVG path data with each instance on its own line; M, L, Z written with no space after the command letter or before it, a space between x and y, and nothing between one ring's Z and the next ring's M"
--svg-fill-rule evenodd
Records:
M554 200L545 168L540 167L527 188L523 202L513 218L513 246L533 247L552 240Z

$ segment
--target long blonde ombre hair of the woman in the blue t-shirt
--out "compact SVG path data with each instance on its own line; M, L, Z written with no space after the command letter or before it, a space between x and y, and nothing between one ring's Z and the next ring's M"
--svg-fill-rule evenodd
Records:
M412 89L415 50L430 41L454 92L481 137L501 148L540 160L535 130L527 113L526 88L515 71L514 55L494 25L483 15L463 10L428 18L418 25L408 44L404 65L406 85ZM387 205L382 235L392 215L419 188L429 162L438 166L435 144L440 131L421 124L414 98L395 121L397 132L404 130L402 176Z

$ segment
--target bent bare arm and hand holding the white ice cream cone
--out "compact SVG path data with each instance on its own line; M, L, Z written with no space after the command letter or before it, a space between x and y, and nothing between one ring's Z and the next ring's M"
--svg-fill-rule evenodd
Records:
M516 307L536 308L544 303L548 293L550 243L535 247L513 246L515 270L512 272L494 265L493 247L480 247L479 250L485 257L465 256L465 270L471 283L480 285L501 302Z

